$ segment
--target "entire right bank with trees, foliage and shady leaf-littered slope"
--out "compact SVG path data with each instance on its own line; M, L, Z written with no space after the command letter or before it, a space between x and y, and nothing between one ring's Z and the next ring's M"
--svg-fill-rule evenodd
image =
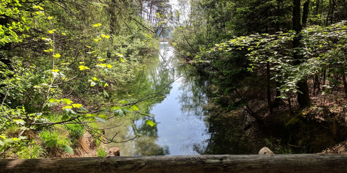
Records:
M172 44L225 111L246 112L275 151L346 147L346 1L178 2Z

